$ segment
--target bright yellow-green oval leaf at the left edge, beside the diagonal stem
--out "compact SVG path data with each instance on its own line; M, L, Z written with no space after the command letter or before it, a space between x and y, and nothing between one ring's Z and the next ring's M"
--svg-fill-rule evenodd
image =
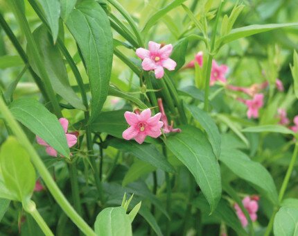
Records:
M35 169L30 156L15 137L8 137L2 144L0 163L7 189L17 196L18 201L30 199L35 187Z

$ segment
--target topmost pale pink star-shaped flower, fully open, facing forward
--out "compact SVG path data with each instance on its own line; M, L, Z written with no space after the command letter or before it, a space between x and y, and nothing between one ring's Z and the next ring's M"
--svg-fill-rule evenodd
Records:
M170 53L173 51L172 44L161 47L161 44L150 41L147 49L139 48L136 53L143 60L142 67L146 71L154 70L156 78L164 76L164 68L173 71L177 63L170 59Z

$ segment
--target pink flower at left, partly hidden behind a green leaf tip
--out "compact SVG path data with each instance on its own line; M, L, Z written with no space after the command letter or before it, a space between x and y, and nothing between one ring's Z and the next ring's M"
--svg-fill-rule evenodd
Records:
M67 144L69 147L74 146L77 142L77 137L75 134L67 133L67 129L69 127L69 121L65 118L60 118L59 122L64 130L65 136L67 137ZM57 157L57 151L53 149L49 144L47 144L41 137L36 136L37 143L46 146L46 153L51 156Z

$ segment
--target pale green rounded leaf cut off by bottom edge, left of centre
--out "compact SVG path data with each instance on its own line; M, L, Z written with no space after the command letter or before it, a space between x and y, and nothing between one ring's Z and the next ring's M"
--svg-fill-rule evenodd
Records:
M132 235L130 217L122 207L103 209L96 217L94 228L96 235Z

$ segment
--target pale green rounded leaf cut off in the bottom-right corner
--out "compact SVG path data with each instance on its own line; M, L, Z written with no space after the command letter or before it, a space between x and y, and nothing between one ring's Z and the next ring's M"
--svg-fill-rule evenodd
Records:
M282 207L275 215L273 224L274 235L298 235L298 209Z

